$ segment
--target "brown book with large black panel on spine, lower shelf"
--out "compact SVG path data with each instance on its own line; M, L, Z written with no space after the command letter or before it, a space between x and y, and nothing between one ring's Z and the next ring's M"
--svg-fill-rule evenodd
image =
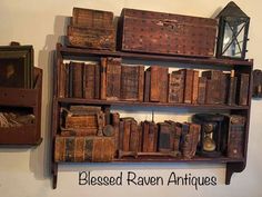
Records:
M170 152L171 147L171 128L167 122L159 122L159 139L158 139L158 151Z

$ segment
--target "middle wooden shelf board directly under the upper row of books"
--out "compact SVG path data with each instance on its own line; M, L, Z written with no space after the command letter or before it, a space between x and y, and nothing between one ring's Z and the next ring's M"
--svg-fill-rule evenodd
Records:
M63 104L91 104L91 105L112 105L112 106L141 106L141 107L177 107L193 109L249 109L249 106L226 106L226 105L194 105L194 104L170 104L170 102L140 102L125 100L99 100L82 98L58 98Z

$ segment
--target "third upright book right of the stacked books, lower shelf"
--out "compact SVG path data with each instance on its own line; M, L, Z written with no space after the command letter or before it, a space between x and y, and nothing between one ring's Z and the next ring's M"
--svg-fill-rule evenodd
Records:
M138 148L139 148L138 122L135 120L132 120L130 126L129 151L138 152Z

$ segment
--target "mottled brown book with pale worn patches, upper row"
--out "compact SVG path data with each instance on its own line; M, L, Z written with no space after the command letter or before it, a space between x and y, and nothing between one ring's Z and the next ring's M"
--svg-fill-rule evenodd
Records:
M182 104L184 100L184 73L169 73L169 102Z

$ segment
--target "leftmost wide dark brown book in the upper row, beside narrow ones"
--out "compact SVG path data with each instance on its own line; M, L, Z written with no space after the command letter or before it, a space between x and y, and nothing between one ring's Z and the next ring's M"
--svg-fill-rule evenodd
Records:
M83 98L83 62L70 62L70 97Z

